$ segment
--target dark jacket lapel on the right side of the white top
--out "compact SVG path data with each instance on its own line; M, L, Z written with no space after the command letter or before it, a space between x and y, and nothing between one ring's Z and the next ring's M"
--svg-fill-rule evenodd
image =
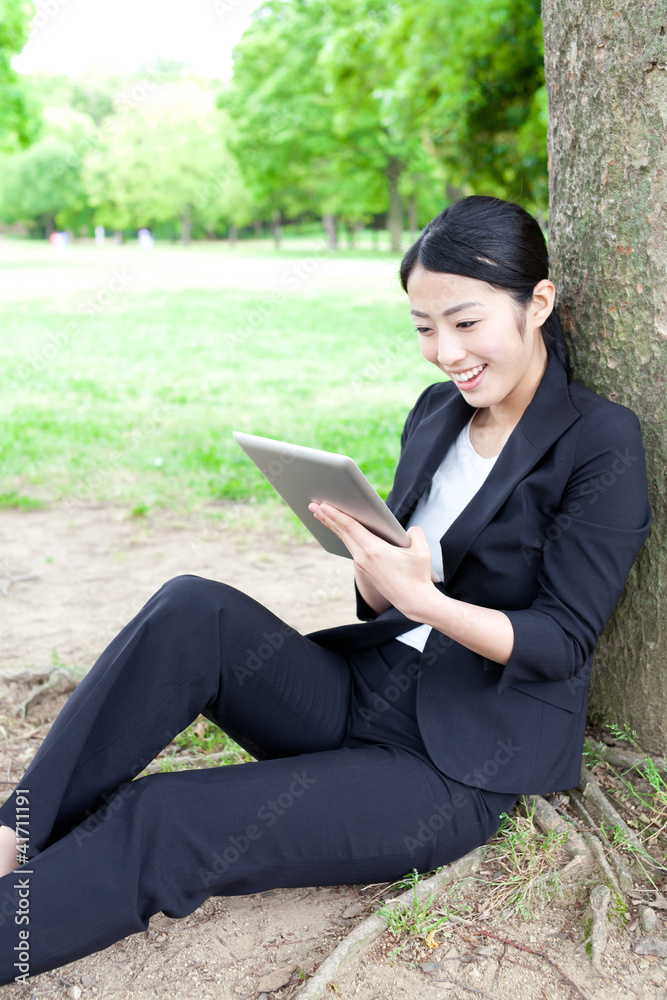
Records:
M445 586L477 535L515 486L578 416L570 402L565 369L556 357L549 355L542 381L491 472L440 540Z

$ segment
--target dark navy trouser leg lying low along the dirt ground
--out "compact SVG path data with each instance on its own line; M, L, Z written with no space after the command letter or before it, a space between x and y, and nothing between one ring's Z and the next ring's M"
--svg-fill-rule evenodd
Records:
M380 746L138 778L0 879L0 983L21 929L35 975L210 895L393 881L483 843L511 799Z

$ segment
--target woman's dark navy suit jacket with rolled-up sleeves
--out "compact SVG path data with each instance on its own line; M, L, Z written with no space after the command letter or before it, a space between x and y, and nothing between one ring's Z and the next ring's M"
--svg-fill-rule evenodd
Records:
M405 525L474 412L453 382L410 411L387 505ZM456 488L456 484L453 484ZM591 657L651 526L639 421L575 381L554 355L487 479L440 540L451 597L503 611L514 629L504 666L432 630L417 718L445 774L494 791L579 783ZM415 627L357 590L363 624L310 633L352 652ZM406 647L407 648L407 647Z

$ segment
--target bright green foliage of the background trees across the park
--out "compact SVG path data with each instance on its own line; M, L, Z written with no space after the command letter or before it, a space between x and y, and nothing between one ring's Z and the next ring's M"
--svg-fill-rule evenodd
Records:
M21 81L8 60L28 7L0 4L0 121L17 158L5 221L177 228L188 240L304 216L353 231L386 213L397 247L407 202L417 227L468 193L546 211L538 0L266 0L217 91L168 62ZM19 159L28 141L47 143L35 160ZM15 202L16 177L33 178L37 161L38 195Z

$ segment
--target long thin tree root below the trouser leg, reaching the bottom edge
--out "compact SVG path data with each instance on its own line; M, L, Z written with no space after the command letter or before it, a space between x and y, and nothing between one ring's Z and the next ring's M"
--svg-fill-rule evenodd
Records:
M476 871L481 863L482 849L478 847L453 864L447 865L442 871L418 882L414 888L408 889L407 892L395 899L390 899L386 904L387 908L392 911L405 910L413 904L415 894L420 902L424 902L429 896L437 896L450 882L455 882L464 875ZM372 914L358 924L324 959L305 986L293 994L295 1000L296 998L298 1000L318 1000L319 997L327 995L331 989L329 984L340 975L344 966L359 951L372 944L386 929L387 922L379 913Z

